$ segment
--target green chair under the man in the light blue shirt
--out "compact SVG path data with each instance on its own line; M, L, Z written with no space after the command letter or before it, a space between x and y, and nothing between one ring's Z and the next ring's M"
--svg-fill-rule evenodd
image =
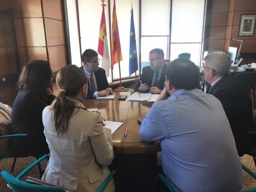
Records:
M254 173L248 167L246 167L245 165L242 164L242 169L256 179L256 173ZM165 176L163 174L158 174L153 192L158 192L159 180L161 180L164 183L164 185L168 188L168 190L170 192L176 192L175 189L173 188L173 186L169 183L169 181L165 178ZM256 192L256 188L252 188L252 189L248 189L248 190L244 190L244 191L240 191L240 192Z

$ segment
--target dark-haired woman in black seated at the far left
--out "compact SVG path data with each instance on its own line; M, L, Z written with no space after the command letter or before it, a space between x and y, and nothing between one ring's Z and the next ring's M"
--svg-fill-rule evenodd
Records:
M50 63L32 60L22 69L11 117L12 134L28 134L13 137L10 142L11 154L15 157L40 157L49 153L43 134L42 111L52 103L53 73Z

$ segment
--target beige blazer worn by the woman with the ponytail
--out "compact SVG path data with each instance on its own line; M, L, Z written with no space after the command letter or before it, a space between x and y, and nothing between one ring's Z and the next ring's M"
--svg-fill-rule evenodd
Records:
M79 192L96 192L109 175L107 165L114 158L111 130L103 128L99 114L82 109L80 101L69 99L77 108L65 135L56 136L51 106L43 110L44 134L51 156L42 179ZM104 192L114 191L112 179Z

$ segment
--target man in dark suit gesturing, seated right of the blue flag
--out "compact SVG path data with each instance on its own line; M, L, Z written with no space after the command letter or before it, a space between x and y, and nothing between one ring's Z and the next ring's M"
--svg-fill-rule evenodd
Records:
M164 88L165 71L167 65L164 64L164 53L161 49L152 49L149 52L150 66L142 69L140 83L134 91L151 92L160 94Z

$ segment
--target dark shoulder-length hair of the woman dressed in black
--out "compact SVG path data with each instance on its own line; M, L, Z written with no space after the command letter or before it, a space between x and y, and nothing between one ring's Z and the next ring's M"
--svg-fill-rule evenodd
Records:
M47 87L52 86L52 75L48 61L29 61L21 71L18 81L19 89L37 89L47 93Z

